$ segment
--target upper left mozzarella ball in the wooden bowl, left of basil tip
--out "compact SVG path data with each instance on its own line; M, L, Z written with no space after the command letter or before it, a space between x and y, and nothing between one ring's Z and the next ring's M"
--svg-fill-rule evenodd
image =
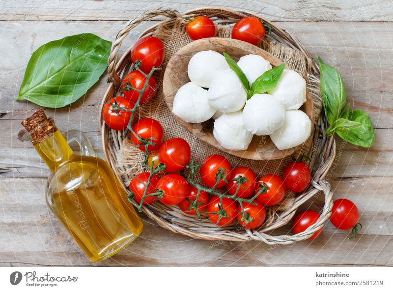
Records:
M215 51L196 53L188 63L188 77L200 87L208 88L214 76L229 69L225 57Z

